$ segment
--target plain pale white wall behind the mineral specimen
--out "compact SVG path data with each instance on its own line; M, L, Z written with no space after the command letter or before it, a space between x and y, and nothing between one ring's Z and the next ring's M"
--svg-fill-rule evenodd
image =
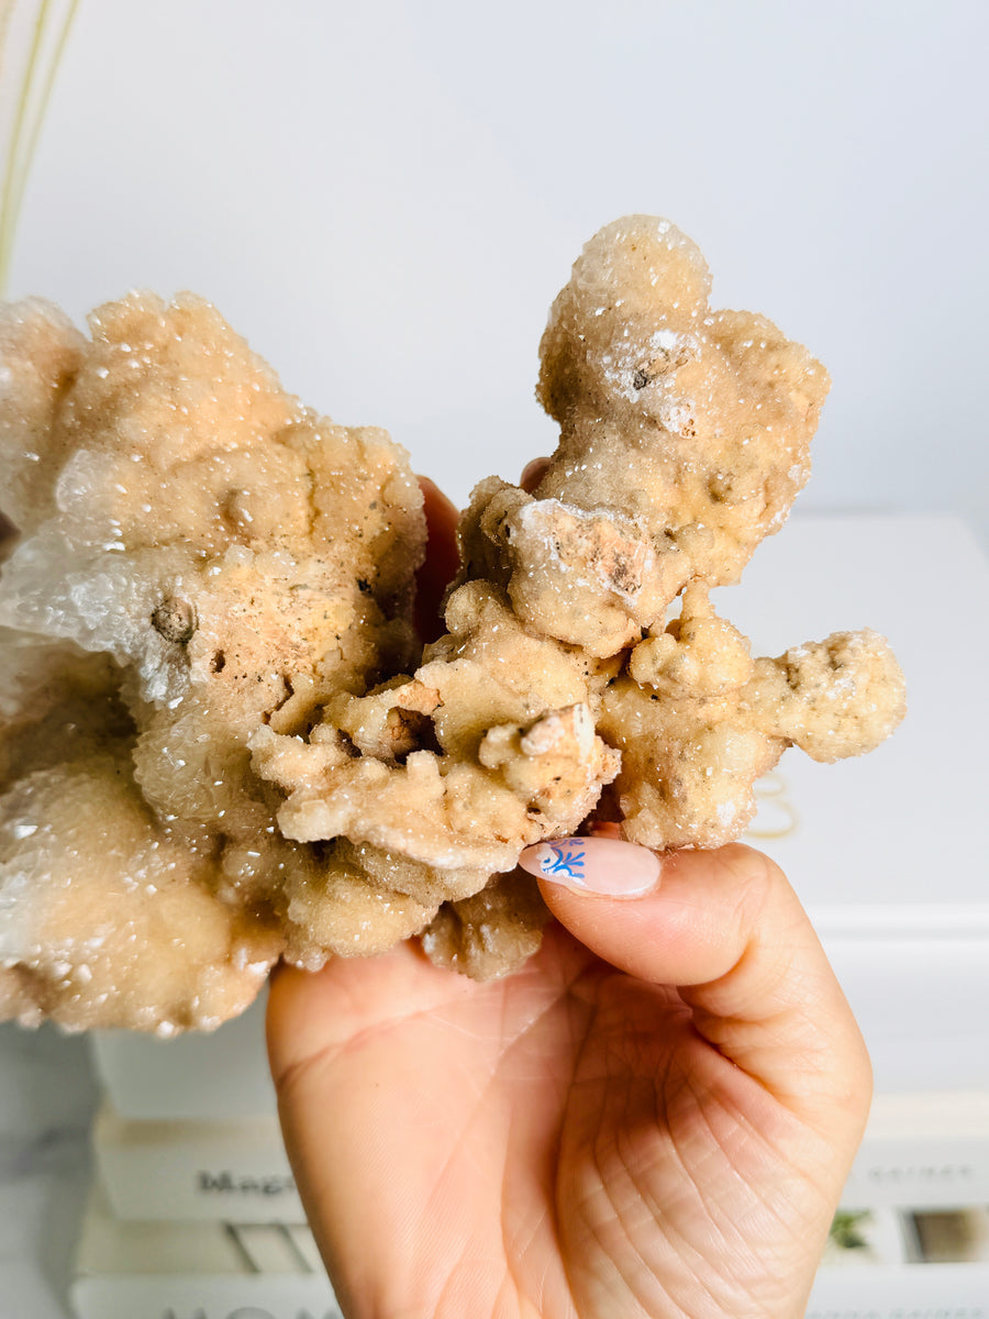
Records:
M803 505L989 539L984 0L83 0L11 293L208 294L462 501L553 446L546 310L625 211L831 368Z

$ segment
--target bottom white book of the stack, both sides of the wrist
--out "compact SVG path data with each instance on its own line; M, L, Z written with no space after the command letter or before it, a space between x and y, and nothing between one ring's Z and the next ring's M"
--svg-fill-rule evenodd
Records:
M99 1190L70 1295L76 1319L339 1319L306 1227L125 1223ZM985 1319L988 1298L989 1210L876 1208L836 1219L807 1319Z

